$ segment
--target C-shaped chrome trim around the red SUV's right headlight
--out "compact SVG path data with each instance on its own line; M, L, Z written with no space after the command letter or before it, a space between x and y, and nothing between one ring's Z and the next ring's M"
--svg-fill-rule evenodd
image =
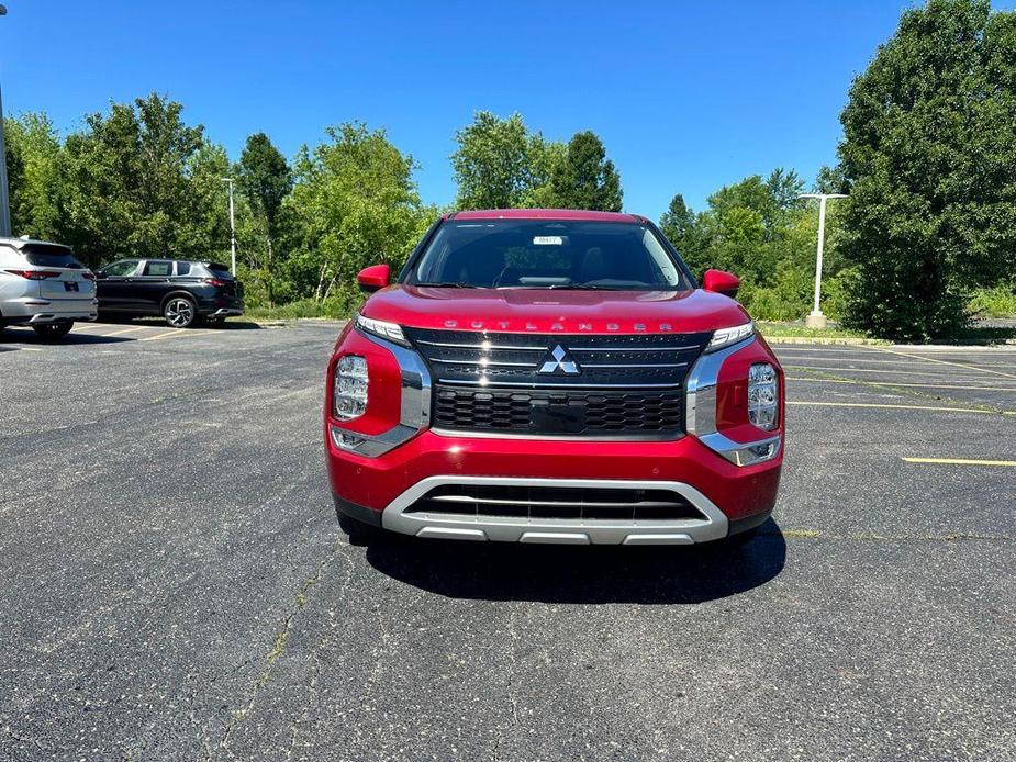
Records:
M716 430L716 382L719 369L724 361L749 346L756 340L756 335L745 338L729 347L717 351L704 352L692 367L684 380L684 426L689 434L697 437L699 441L717 455L726 458L735 466L755 466L772 460L780 453L781 439L779 436L763 437L757 441L738 442L719 434ZM782 415L782 411L780 411ZM763 456L756 451L758 448L768 448Z

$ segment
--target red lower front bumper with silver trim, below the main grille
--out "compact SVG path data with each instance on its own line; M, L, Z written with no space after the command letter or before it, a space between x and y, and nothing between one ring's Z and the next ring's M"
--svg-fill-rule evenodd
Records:
M378 458L328 442L328 477L355 518L418 537L522 542L685 545L726 537L772 511L782 456L738 467L695 437L604 442L454 437L425 430ZM406 511L438 484L670 490L701 517L672 520L461 517ZM371 520L376 516L376 520ZM759 522L752 523L752 518Z

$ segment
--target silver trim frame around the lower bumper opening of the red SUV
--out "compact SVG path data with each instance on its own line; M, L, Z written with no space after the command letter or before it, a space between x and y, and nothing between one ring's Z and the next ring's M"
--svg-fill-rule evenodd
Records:
M435 486L447 484L670 490L688 500L703 517L621 520L405 513ZM454 475L427 477L413 484L388 504L381 514L381 526L416 537L576 545L691 545L726 537L729 528L726 515L716 504L684 482Z

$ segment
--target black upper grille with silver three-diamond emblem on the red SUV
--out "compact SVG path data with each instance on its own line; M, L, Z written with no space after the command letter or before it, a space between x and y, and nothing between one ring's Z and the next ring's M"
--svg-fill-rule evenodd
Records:
M438 428L630 439L684 433L684 377L710 337L404 330Z

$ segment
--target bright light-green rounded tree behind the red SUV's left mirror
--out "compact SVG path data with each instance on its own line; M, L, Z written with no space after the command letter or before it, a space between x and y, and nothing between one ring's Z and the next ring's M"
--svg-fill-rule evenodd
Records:
M351 303L356 273L378 262L400 267L436 210L421 203L416 165L383 130L350 123L326 132L325 143L297 158L287 203L302 243L288 269L301 295Z

